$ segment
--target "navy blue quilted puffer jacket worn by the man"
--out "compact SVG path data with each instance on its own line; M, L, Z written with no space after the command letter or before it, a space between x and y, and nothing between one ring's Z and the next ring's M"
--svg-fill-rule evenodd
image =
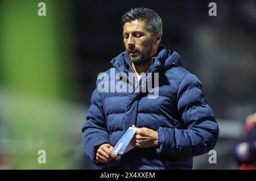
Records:
M193 156L207 153L216 145L218 124L199 79L183 68L179 54L165 47L159 47L153 60L148 73L159 73L155 99L149 98L151 93L145 91L98 91L102 79L97 80L92 105L82 126L85 153L96 165L105 169L192 169ZM111 63L115 74L128 77L133 72L126 52ZM111 71L105 72L109 75L105 83L110 87L121 81L113 79ZM122 80L125 86L129 85L129 81ZM140 86L143 90L143 83ZM133 124L157 131L158 146L134 148L119 157L119 161L98 162L98 147L103 143L114 146Z

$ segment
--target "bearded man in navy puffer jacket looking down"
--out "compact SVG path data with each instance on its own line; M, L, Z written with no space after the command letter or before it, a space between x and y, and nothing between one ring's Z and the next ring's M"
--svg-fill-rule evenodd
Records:
M126 51L111 64L118 73L134 73L138 87L141 73L159 74L159 96L94 90L82 126L85 153L104 169L192 169L193 156L207 153L218 140L201 82L183 68L179 54L160 45L162 20L155 11L131 9L121 22ZM118 157L113 146L129 127L138 128L130 142L135 148Z

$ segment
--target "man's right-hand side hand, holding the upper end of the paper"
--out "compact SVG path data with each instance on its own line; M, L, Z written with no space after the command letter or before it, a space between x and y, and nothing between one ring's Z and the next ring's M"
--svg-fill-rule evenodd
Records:
M137 128L133 125L133 128ZM130 142L139 148L149 148L158 145L158 132L148 128L138 128Z

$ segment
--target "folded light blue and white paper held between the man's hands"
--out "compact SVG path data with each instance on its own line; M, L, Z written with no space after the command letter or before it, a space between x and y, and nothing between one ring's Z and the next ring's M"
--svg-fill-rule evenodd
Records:
M122 155L125 154L127 151L130 151L134 148L134 146L130 145L131 138L133 138L134 134L136 133L137 128L130 127L125 134L121 137L121 139L117 142L114 146L112 151L115 154Z

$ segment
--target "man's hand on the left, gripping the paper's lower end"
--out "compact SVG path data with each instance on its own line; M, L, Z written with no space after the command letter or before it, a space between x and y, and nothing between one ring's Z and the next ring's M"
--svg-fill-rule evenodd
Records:
M102 144L96 153L96 159L99 162L107 163L109 161L112 161L112 159L118 160L117 154L114 154L112 151L113 146L110 144Z

